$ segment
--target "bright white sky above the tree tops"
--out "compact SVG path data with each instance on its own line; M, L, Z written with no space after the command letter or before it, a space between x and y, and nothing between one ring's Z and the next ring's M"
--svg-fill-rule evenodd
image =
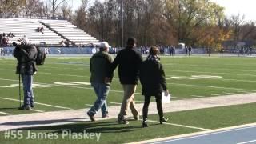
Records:
M90 0L94 2L95 0ZM100 0L104 1L104 0ZM256 22L256 0L210 0L211 2L216 2L218 5L225 8L225 14L227 16L231 15L245 15L246 21L255 21ZM78 6L81 5L81 0L68 0L70 6L73 5L73 10L77 10Z

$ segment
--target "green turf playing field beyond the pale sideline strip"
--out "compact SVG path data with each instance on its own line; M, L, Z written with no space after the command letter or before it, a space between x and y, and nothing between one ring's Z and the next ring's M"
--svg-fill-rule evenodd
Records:
M256 58L161 57L173 100L256 92ZM38 111L17 110L18 75L16 60L0 58L0 116ZM90 86L90 57L46 58L34 76L36 110L73 110L90 107L95 100ZM141 86L135 95L143 101ZM117 70L110 87L109 106L122 102ZM4 114L6 113L6 114Z

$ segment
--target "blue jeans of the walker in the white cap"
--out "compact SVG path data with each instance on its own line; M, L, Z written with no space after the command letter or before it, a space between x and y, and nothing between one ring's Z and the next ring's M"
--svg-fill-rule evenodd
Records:
M94 106L92 106L89 110L90 115L94 115L98 112L99 109L102 110L102 115L108 113L107 105L106 105L106 97L109 94L110 86L105 83L91 83L91 86L94 87L94 91L97 95L97 100L94 102Z

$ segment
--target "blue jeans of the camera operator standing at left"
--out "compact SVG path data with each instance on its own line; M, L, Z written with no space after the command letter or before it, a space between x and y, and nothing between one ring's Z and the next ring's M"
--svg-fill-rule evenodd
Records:
M24 106L34 105L34 94L32 89L33 75L22 74Z

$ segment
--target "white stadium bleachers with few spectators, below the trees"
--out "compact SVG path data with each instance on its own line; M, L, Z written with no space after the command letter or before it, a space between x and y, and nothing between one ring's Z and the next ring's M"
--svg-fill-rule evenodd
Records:
M43 34L37 31L38 27L43 27ZM0 18L0 34L5 33L7 35L10 32L15 37L9 38L9 45L24 35L35 45L59 46L62 41L71 42L76 46L91 43L98 45L100 43L96 38L66 20Z

